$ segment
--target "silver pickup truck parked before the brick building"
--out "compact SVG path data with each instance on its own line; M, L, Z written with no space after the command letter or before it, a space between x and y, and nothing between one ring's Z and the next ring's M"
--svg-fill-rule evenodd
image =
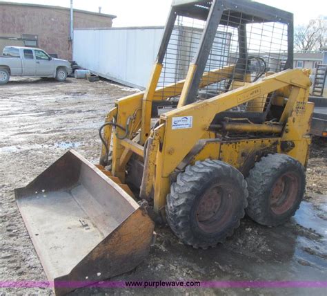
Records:
M0 56L0 84L6 84L10 75L54 77L62 82L70 73L70 62L54 59L39 48L7 46Z

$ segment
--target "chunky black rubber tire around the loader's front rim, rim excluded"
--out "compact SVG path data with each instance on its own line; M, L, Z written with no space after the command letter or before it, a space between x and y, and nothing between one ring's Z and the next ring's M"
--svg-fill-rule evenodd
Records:
M190 209L197 198L197 194L201 192L201 185L212 174L219 176L221 174L227 175L229 178L236 178L241 189L244 192L242 210L233 217L235 223L232 229L227 229L219 239L212 239L212 241L199 241L190 229ZM215 247L217 243L222 243L227 237L230 237L233 231L239 227L239 221L245 215L245 208L247 206L248 190L247 183L243 175L231 165L223 163L219 160L204 160L197 161L195 165L188 165L186 171L177 176L177 182L172 183L170 194L167 196L166 203L166 217L168 225L173 232L187 245L194 248Z

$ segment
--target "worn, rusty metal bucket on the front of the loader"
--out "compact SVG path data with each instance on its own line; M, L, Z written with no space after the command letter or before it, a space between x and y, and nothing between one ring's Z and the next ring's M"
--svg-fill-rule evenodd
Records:
M70 150L15 189L56 295L132 270L148 255L154 223L112 179Z

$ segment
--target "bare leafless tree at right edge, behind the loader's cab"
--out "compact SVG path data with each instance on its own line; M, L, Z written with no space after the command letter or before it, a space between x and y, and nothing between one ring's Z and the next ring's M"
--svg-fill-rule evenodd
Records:
M295 50L319 50L327 45L327 17L312 19L306 26L297 26L294 35Z

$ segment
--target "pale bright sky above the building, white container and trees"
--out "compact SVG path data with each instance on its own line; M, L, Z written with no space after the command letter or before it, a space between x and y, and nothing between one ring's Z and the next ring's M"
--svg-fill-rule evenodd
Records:
M0 0L3 1L3 0ZM4 0L10 1L10 0ZM326 0L257 0L293 12L295 24L306 24L319 15L327 15ZM12 2L70 6L70 0L14 0ZM117 15L113 26L159 26L164 25L171 0L74 0L74 7Z

